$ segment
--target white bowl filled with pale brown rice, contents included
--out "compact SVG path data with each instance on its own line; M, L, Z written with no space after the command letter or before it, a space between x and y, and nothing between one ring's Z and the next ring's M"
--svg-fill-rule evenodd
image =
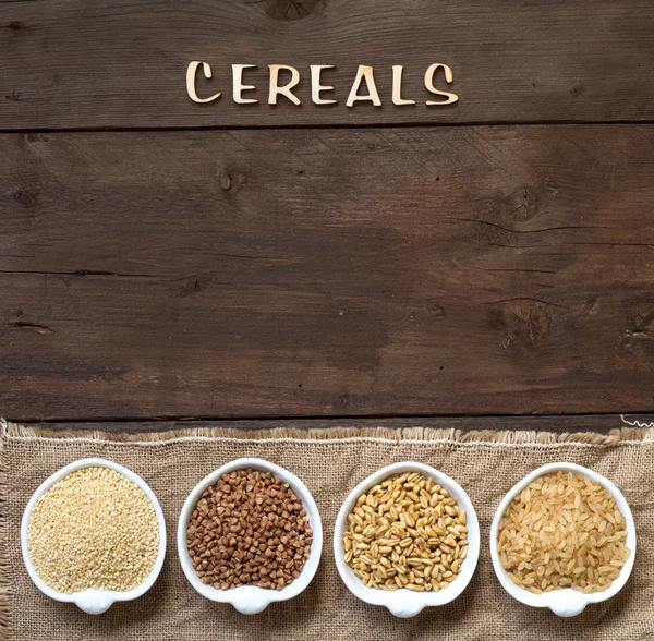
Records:
M573 463L528 474L505 496L491 528L491 556L502 588L561 617L615 596L634 555L627 500L608 479Z

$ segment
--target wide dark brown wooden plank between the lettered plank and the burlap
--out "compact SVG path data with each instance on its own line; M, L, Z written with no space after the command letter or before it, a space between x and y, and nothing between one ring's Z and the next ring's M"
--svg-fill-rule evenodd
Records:
M4 134L2 413L650 411L653 141Z

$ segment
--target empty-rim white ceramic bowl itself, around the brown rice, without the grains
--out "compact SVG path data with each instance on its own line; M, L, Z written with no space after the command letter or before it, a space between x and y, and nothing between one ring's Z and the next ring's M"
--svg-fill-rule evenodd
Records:
M608 590L605 590L604 592L584 594L582 592L578 592L577 590L572 590L571 588L565 588L562 590L553 590L552 592L546 592L544 594L534 594L529 590L524 590L523 588L516 585L516 583L509 579L509 576L507 575L507 571L504 569L501 560L499 559L499 553L497 552L497 532L499 529L499 521L501 520L501 517L509 504L534 479L537 479L543 474L549 474L552 472L559 471L579 472L580 474L588 476L591 481L601 483L613 496L616 505L627 521L627 547L631 551L631 554L629 555L627 563L622 566L618 578L610 584ZM607 598L615 596L625 586L625 583L627 583L627 579L629 579L629 575L631 575L631 569L633 568L634 557L635 527L633 524L633 517L631 516L629 505L627 504L627 500L622 496L621 492L608 479L602 476L602 474L597 474L597 472L593 472L593 470L589 470L588 468L582 468L581 465L576 465L573 463L550 463L534 470L531 474L528 474L505 496L504 500L499 504L491 527L491 558L493 559L493 568L495 569L495 573L497 575L501 586L520 603L531 605L532 607L548 607L555 615L559 617L577 616L583 612L589 603L600 603L601 601L606 601Z

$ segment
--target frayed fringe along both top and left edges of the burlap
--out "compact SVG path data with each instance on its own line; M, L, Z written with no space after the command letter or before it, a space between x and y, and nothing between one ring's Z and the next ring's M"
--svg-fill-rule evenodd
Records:
M294 430L276 427L274 430L246 431L231 427L191 427L171 430L167 432L149 432L144 434L124 434L97 431L62 431L44 427L24 427L15 423L0 420L0 641L9 639L11 613L10 602L12 596L11 564L8 546L8 451L7 446L12 438L46 438L70 439L84 438L108 443L146 443L165 444L177 439L193 438L238 438L238 439L298 439L298 440L332 440L348 438L383 439L400 443L411 442L441 442L445 444L488 444L506 446L529 445L585 445L597 447L614 447L654 442L654 427L621 427L611 430L607 434L593 432L553 433L533 431L500 431L493 430L437 430L433 427L330 427L324 430Z

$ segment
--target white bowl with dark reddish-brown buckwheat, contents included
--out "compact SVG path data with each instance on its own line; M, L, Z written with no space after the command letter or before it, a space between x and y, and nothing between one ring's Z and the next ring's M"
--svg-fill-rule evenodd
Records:
M320 515L298 476L263 459L238 459L189 494L178 553L199 594L257 614L311 583L323 553Z

